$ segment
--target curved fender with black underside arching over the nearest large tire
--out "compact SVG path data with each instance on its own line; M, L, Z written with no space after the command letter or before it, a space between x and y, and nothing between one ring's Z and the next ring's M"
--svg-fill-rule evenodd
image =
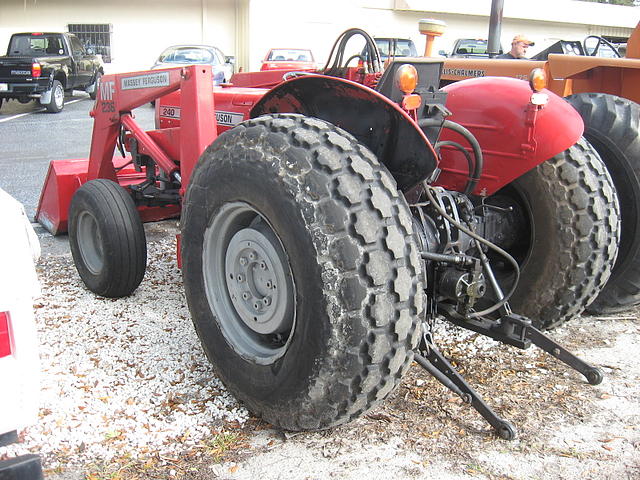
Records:
M437 166L424 132L398 105L349 80L305 75L281 83L254 105L251 118L273 113L300 113L346 130L389 169L403 192Z

